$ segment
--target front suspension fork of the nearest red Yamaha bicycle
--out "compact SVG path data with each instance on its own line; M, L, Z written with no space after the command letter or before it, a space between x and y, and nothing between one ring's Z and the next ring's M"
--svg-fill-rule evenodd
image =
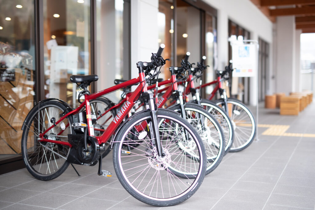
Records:
M156 109L156 106L154 105L153 94L143 92L142 98L143 98L143 102L144 102L144 105L146 106L146 108L150 109L151 120L149 122L149 125L150 125L151 129L150 129L150 131L148 131L149 137L150 137L150 139L154 139L154 142L152 142L152 143L154 143L156 148L157 148L158 156L163 157L163 156L165 156L165 153L164 153L164 150L162 147L160 133L158 130L157 109Z

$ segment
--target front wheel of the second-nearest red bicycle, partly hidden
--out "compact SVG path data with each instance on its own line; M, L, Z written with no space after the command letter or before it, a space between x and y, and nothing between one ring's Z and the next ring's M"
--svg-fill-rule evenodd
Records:
M169 107L180 112L178 105ZM200 135L207 155L206 174L211 173L221 163L224 156L225 140L220 124L201 106L185 104L186 120Z

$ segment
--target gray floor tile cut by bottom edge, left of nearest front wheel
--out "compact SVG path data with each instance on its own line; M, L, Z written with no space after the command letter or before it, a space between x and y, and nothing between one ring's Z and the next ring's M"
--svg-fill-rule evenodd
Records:
M100 210L108 209L113 205L117 204L115 201L104 201L94 198L80 198L75 201L66 203L63 206L58 207L58 209L64 210L78 210L78 209L89 209L89 210Z

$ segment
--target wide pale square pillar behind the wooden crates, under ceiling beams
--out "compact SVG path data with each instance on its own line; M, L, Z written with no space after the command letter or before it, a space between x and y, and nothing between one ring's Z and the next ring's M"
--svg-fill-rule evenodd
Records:
M295 90L295 17L277 17L276 92Z

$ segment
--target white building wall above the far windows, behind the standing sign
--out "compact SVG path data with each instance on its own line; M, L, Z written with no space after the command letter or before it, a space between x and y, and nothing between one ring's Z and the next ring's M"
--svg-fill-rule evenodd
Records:
M251 39L264 39L272 49L272 22L250 0L205 0L217 9L218 28L218 68L223 69L228 63L228 19L239 24L251 33ZM270 50L270 58L272 50ZM267 80L272 80L272 59L269 60ZM256 105L257 100L257 76L250 78L249 103ZM272 88L272 86L270 86ZM273 92L270 88L267 92Z

